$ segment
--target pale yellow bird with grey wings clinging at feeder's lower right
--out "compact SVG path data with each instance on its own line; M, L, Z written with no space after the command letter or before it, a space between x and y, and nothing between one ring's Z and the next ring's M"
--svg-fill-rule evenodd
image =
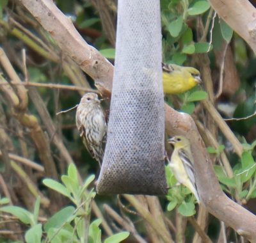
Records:
M174 146L169 166L180 184L185 185L195 195L198 203L200 198L196 188L194 159L189 140L184 136L169 137L168 143Z

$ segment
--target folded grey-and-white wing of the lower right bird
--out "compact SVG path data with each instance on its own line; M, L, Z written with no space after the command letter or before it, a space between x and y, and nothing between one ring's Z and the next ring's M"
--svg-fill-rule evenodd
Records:
M196 189L196 180L195 180L195 169L193 164L193 159L189 156L189 153L184 149L179 150L179 157L182 161L182 164L186 170L189 180Z

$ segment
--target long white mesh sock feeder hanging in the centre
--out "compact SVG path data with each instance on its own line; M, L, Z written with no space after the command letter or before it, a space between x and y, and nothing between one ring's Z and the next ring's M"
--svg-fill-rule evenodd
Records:
M159 1L119 0L99 194L166 194Z

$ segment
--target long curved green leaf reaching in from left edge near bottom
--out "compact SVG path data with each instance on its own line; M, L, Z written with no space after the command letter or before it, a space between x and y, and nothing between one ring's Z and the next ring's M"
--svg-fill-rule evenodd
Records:
M33 214L24 208L17 206L5 206L0 208L1 212L6 212L16 216L24 224L33 224Z

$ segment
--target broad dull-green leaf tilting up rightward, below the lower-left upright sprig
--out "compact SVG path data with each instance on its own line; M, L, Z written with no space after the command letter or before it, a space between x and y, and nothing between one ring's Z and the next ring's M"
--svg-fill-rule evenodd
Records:
M56 214L50 217L47 223L44 224L44 230L49 231L51 228L60 228L63 223L68 223L68 221L72 220L75 210L76 208L73 206L68 206L56 212Z

